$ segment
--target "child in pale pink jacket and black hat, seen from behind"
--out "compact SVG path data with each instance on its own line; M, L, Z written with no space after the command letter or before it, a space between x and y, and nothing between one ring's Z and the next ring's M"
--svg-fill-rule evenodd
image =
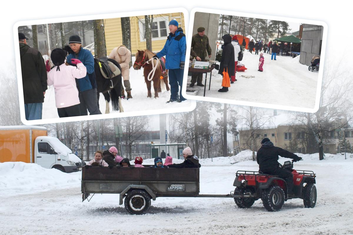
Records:
M86 67L80 60L71 59L71 64L65 64L67 52L61 48L56 48L50 54L54 67L48 73L48 86L53 85L55 91L55 104L59 117L80 116L80 100L75 78L84 78L87 73Z

